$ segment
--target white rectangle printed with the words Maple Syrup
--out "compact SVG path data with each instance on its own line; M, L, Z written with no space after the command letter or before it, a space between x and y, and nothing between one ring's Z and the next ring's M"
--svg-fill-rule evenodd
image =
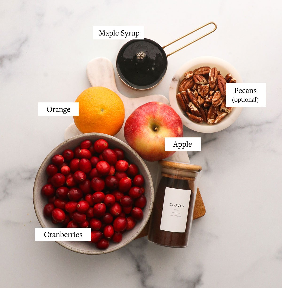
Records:
M93 40L144 39L144 26L92 26Z

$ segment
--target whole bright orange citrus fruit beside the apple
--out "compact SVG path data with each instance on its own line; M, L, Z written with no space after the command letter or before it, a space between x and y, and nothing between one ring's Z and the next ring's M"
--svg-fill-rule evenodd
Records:
M97 132L111 136L118 133L124 122L124 105L120 97L105 87L90 87L75 100L79 115L74 123L82 133Z

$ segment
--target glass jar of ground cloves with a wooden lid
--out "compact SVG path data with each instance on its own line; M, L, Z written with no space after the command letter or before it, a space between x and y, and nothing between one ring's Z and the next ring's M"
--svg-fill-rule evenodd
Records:
M186 247L202 167L164 160L159 164L148 240L167 247Z

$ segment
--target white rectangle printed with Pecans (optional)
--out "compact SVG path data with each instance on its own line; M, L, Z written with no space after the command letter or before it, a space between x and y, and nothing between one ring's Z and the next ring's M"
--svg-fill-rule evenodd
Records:
M226 83L227 107L266 107L266 83Z

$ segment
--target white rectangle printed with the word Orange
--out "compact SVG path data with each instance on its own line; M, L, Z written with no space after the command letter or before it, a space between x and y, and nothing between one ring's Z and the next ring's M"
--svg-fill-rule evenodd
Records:
M39 102L38 116L78 116L78 102Z

